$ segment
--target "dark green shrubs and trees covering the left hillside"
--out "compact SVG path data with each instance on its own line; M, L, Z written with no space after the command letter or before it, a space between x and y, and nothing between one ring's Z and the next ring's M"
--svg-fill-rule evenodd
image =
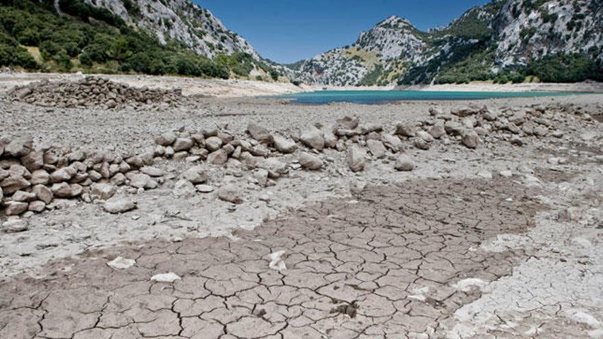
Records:
M126 1L127 2L127 1ZM135 1L127 2L136 12ZM42 71L98 71L189 75L227 79L247 77L254 66L273 69L245 53L210 60L177 41L161 45L156 36L126 25L121 18L83 0L3 0L0 5L0 66ZM38 47L36 62L25 47ZM278 73L277 73L278 77Z

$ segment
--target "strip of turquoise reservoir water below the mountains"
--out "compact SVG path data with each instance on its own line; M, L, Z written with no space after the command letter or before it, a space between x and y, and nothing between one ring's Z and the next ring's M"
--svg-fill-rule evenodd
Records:
M558 97L581 93L568 92L429 92L422 90L321 90L278 98L295 99L294 103L323 105L332 102L347 103L388 103L404 100L481 100L504 98Z

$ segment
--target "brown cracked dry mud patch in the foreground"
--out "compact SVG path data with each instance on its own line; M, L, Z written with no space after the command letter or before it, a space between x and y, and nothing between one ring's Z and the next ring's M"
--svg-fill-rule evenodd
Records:
M130 244L58 260L0 286L0 338L427 338L511 275L543 210L508 179L368 186L232 238ZM287 269L269 268L286 251ZM113 269L117 256L136 259ZM182 277L151 282L156 274Z

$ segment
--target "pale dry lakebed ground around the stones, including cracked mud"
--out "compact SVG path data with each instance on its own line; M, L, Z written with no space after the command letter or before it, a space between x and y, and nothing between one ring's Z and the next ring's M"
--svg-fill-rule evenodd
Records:
M249 97L299 90L290 84L109 77L195 97L106 110L0 93L0 136L69 152L57 164L102 152L93 166L104 183L112 165L150 152L153 168L133 172L155 173L156 184L119 186L136 201L121 214L84 198L0 212L0 338L600 337L602 94L291 105ZM0 75L0 84L40 78L77 75ZM495 116L452 114L467 105ZM310 125L345 117L359 125L334 147L301 141ZM426 136L445 121L475 127L478 145L452 130ZM262 146L250 123L296 149ZM156 144L168 131L254 154L208 164L188 158L203 154L195 146L175 160ZM308 155L317 171L302 166ZM400 158L413 171L398 171ZM0 175L23 173L18 161L2 158ZM182 184L193 166L209 188ZM225 201L222 188L238 200Z

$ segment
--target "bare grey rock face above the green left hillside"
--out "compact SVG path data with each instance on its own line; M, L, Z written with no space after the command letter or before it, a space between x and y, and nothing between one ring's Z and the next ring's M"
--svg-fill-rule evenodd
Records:
M156 35L162 43L182 42L198 54L214 58L219 53L260 55L244 38L227 29L209 10L190 0L85 0L106 8L129 25Z

